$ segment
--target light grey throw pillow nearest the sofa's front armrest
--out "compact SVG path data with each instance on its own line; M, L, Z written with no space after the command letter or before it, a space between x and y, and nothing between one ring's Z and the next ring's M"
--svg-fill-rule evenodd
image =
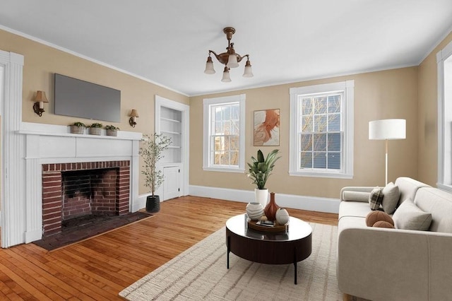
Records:
M422 211L411 199L406 199L393 215L397 229L429 230L432 214Z

